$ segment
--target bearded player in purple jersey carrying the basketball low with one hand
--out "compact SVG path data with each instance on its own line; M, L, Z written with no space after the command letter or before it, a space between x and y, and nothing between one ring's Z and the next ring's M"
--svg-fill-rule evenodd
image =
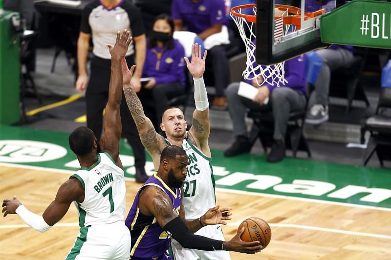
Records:
M130 259L172 260L172 256L167 252L170 237L179 241L184 248L206 250L203 252L259 252L262 248L259 241L240 240L244 228L230 241L192 234L206 225L226 224L224 220L230 220L231 213L226 212L230 208L215 207L195 220L185 220L182 185L187 175L187 163L188 156L182 148L176 145L167 146L161 152L157 172L136 194L126 219L131 235ZM222 213L226 213L227 217L223 217ZM177 257L175 259L186 260Z

